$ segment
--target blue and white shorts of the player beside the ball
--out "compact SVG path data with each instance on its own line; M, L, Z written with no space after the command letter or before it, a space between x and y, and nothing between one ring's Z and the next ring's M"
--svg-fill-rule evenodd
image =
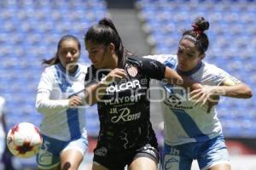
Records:
M52 139L45 135L42 136L44 142L37 155L38 167L40 169L57 167L60 163L61 151L63 150L79 150L84 156L88 147L88 139L84 136L82 136L80 139L73 139L67 142Z

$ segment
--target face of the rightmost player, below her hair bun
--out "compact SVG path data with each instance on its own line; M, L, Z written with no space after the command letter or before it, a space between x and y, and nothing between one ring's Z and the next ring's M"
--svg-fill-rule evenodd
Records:
M195 42L183 39L177 48L177 68L180 71L191 71L203 59L205 54L200 54Z

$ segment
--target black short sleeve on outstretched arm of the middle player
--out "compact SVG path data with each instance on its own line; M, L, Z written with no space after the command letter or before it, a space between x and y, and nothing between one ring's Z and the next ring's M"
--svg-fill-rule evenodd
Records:
M166 65L163 65L158 60L154 59L142 59L142 71L143 75L156 80L162 80L165 78Z

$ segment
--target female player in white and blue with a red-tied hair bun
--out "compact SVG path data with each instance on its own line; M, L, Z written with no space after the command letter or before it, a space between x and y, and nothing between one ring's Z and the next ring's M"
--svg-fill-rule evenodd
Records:
M197 160L200 169L230 170L230 158L217 112L214 106L209 110L207 103L214 103L212 96L246 99L253 94L245 83L203 61L208 48L204 31L209 23L198 17L193 27L193 30L183 31L177 55L146 56L203 85L191 92L189 98L187 89L163 83L166 89L166 98L162 102L165 122L163 169L190 170L192 161Z

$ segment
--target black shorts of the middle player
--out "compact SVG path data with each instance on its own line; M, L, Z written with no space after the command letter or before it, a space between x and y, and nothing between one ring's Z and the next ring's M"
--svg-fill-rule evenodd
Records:
M158 164L159 151L150 144L145 144L137 150L125 150L122 153L109 154L108 150L102 147L94 151L93 161L110 170L123 170L126 165L129 166L138 157L148 157Z

